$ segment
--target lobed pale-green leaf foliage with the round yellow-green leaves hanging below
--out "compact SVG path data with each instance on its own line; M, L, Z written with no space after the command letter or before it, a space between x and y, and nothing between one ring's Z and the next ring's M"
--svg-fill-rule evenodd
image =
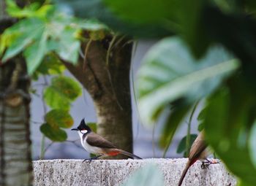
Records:
M0 35L0 57L6 63L21 53L34 80L55 75L43 93L52 110L46 113L40 131L53 142L63 142L67 133L61 128L73 125L69 108L82 90L78 82L63 76L65 67L61 61L77 63L80 42L98 39L99 33L105 36L109 29L97 20L82 20L60 12L49 2L34 1L20 8L15 1L6 0L7 13L18 22Z

